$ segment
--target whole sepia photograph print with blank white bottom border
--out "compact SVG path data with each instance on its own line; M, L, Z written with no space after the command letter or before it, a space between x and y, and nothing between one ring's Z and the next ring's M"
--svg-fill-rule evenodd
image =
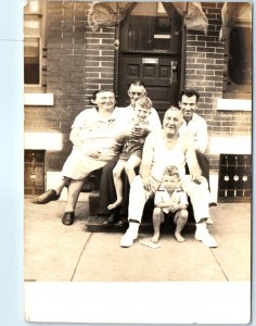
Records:
M25 321L249 323L252 2L23 5Z

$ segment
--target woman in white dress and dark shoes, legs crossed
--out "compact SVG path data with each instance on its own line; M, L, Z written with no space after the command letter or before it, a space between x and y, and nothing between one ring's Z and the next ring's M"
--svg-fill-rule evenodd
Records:
M91 102L95 108L86 109L77 115L72 125L71 141L73 150L62 170L62 179L47 192L31 202L46 204L57 200L65 186L68 187L67 204L62 218L64 225L72 225L75 206L82 188L85 177L92 171L104 166L118 154L114 146L121 109L115 108L115 95L112 90L98 90Z

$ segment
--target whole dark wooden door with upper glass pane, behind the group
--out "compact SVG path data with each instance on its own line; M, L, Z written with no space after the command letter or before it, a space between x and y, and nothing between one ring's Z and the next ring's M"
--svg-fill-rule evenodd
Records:
M120 25L118 105L128 105L132 80L144 83L154 108L163 117L177 105L181 75L181 21L171 16L130 15Z

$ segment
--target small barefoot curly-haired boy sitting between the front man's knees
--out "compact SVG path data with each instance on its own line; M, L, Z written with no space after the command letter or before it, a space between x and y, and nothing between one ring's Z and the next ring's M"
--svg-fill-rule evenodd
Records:
M176 224L175 237L178 242L183 242L181 231L188 221L188 198L185 192L178 186L179 171L169 165L165 168L162 184L155 192L155 209L153 211L154 235L152 242L158 242L159 227L165 215L172 215Z

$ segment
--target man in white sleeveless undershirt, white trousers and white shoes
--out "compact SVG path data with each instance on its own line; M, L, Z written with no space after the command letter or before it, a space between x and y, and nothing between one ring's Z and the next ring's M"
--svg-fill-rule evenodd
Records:
M130 186L129 227L121 237L120 247L131 247L138 238L143 210L148 199L156 192L163 180L163 173L169 165L175 165L180 175L179 186L190 197L195 220L195 239L209 248L218 244L209 235L206 221L209 216L208 184L202 176L196 160L193 140L179 134L183 115L181 110L170 106L164 115L163 130L151 133L145 139L140 174ZM190 174L185 173L185 163Z

